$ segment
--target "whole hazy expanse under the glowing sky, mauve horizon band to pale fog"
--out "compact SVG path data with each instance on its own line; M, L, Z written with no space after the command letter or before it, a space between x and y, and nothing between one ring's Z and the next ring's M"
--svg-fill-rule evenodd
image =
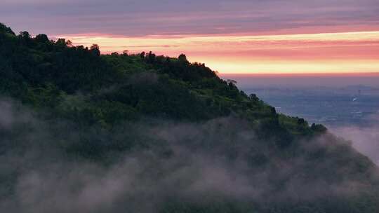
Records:
M379 164L379 74L221 76L281 113L328 126Z

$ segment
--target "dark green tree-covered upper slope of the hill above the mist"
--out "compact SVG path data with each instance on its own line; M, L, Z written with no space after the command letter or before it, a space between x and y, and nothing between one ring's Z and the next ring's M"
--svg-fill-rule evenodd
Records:
M75 47L64 39L49 41L44 34L31 38L27 32L15 36L4 25L1 29L6 34L0 37L0 91L35 109L52 110L65 118L87 111L88 118L81 121L109 128L146 115L205 121L233 112L256 128L267 125L300 135L317 133L298 118L279 116L204 64L189 63L185 55L178 59L151 52L100 55L96 45ZM67 99L84 103L68 107Z

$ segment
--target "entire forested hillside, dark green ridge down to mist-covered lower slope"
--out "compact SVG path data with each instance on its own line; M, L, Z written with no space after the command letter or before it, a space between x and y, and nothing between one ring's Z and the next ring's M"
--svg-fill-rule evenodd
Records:
M379 212L378 168L204 64L0 24L8 212Z

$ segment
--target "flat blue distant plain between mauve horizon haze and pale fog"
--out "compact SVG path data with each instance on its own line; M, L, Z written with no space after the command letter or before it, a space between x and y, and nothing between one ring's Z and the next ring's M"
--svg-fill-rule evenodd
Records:
M241 88L257 94L283 114L306 118L329 127L378 124L379 89L368 86L344 88Z

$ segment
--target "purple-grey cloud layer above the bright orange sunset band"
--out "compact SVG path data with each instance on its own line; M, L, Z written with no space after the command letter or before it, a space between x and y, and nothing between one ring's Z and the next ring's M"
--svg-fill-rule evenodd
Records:
M3 0L0 21L32 34L235 34L304 27L379 29L377 0Z

